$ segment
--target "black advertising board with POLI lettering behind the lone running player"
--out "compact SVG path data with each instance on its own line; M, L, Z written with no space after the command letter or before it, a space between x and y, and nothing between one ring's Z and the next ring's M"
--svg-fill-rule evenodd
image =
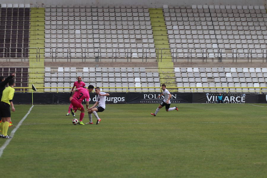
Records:
M161 93L127 93L127 103L161 103ZM192 103L192 93L171 93L171 103Z

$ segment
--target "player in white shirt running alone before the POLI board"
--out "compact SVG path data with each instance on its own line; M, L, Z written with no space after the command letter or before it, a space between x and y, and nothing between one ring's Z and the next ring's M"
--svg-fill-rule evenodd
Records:
M178 111L178 107L172 107L170 108L171 105L171 93L166 89L166 85L162 84L161 85L163 93L161 93L158 98L160 98L161 96L164 96L163 101L160 103L159 107L156 109L155 113L150 113L153 116L156 116L157 113L159 112L160 108L162 108L163 106L165 106L166 111L172 111L174 109L176 109Z

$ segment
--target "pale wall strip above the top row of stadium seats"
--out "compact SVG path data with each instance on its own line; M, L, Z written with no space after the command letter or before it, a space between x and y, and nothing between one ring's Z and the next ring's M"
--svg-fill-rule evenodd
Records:
M167 3L168 2L168 3ZM267 0L0 0L6 4L31 4L31 7L45 7L48 4L135 4L146 5L147 7L162 8L163 4L172 5L266 5Z

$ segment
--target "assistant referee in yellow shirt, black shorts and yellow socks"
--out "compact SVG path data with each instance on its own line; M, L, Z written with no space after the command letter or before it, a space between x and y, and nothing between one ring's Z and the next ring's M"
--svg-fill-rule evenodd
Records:
M8 85L9 86L3 91L3 95L2 95L1 103L0 103L0 114L2 117L2 124L0 126L1 127L0 137L4 139L12 138L11 136L7 135L7 130L9 127L9 122L10 122L10 117L11 117L10 105L12 107L12 111L15 112L15 108L12 102L12 99L15 93L15 89L13 88L15 85L15 81L13 79L10 79L8 81Z

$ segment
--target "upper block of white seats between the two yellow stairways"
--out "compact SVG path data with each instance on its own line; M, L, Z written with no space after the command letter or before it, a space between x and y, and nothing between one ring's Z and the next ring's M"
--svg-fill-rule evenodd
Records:
M140 6L46 7L45 43L46 57L51 50L57 57L156 57L148 8Z

